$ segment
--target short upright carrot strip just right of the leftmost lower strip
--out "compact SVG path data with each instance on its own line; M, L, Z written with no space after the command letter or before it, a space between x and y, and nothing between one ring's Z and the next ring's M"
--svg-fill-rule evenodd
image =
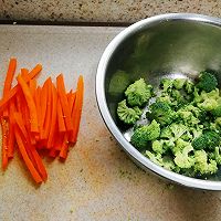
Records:
M13 152L14 152L14 143L15 143L15 137L14 137L14 117L13 113L15 112L15 104L14 101L12 99L9 106L9 143L8 143L8 157L13 158Z

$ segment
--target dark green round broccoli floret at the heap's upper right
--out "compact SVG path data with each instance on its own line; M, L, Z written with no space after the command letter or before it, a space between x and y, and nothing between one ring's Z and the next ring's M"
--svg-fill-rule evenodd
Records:
M217 86L218 86L218 80L213 74L210 74L209 72L200 72L199 83L197 84L197 87L206 92L211 92Z

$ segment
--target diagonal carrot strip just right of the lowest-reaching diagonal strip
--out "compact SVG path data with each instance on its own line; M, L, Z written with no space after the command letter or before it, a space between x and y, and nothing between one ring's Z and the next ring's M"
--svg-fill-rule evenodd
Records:
M43 180L45 181L48 178L48 173L45 170L45 167L42 162L41 157L39 156L36 149L34 146L31 145L30 139L29 139L29 134L24 127L24 123L22 122L22 117L20 113L14 113L14 119L17 122L17 125L19 129L21 130L23 137L24 137L24 146L27 146L27 151L30 158L32 159L33 165L35 168L39 170L40 175L42 176Z

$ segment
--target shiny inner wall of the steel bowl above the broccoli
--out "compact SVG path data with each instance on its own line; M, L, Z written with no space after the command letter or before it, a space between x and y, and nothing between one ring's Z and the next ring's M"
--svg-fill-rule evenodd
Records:
M139 77L158 85L161 77L194 78L211 70L221 85L221 28L206 22L168 20L128 35L113 53L105 76L109 113L127 138L128 128L116 117L125 88ZM221 180L221 176L211 177Z

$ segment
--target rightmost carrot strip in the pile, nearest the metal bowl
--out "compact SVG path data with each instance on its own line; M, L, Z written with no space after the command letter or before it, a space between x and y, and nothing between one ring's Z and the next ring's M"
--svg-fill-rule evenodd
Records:
M82 115L82 106L83 106L83 96L84 96L84 80L81 75L77 81L77 90L76 90L76 99L73 108L73 134L71 137L72 143L76 143L78 128L80 128L80 122L81 122L81 115Z

